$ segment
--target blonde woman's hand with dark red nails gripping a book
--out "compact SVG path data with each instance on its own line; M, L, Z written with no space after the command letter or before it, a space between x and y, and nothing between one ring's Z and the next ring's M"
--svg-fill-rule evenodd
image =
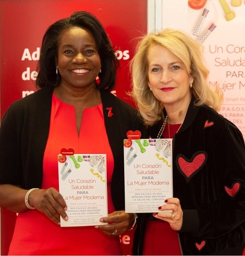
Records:
M161 212L154 213L153 216L170 223L170 227L173 230L180 230L183 223L183 211L180 206L180 200L178 198L168 198L165 200L165 203L159 207Z

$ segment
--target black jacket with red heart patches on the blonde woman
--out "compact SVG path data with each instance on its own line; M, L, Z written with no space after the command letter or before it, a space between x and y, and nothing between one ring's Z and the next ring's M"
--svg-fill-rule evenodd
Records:
M161 125L162 121L151 127L152 138ZM184 212L178 232L184 255L241 255L245 244L244 139L234 124L213 109L195 107L194 98L173 138L173 196L180 199ZM139 216L134 255L142 254L147 218Z

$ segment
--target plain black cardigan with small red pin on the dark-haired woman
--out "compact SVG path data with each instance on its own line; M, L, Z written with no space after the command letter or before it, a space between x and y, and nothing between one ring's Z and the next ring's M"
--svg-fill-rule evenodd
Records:
M3 116L0 129L0 184L20 185L24 189L41 188L43 154L49 135L53 88L42 88L17 100ZM145 126L138 111L109 92L100 92L106 132L113 152L114 170L111 184L116 210L125 209L123 139L127 131ZM112 108L113 116L108 116Z

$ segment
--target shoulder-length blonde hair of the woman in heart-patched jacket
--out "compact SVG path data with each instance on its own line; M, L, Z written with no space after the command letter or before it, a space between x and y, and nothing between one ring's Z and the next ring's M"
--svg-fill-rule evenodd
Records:
M175 29L164 29L160 33L150 33L141 38L136 54L130 62L132 72L132 92L130 95L145 124L153 125L162 118L162 103L154 97L148 86L148 51L152 45L162 45L175 54L186 66L193 77L191 91L196 98L196 106L207 104L218 110L222 102L222 93L212 90L207 83L209 70L204 65L202 47L191 36Z

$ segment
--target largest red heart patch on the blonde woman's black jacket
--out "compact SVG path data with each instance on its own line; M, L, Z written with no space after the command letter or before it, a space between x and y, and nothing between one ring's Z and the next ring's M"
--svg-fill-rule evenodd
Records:
M191 160L187 159L183 155L177 157L177 165L181 173L184 174L187 182L189 182L194 173L197 173L202 168L206 160L207 156L205 152L197 152L193 155Z

